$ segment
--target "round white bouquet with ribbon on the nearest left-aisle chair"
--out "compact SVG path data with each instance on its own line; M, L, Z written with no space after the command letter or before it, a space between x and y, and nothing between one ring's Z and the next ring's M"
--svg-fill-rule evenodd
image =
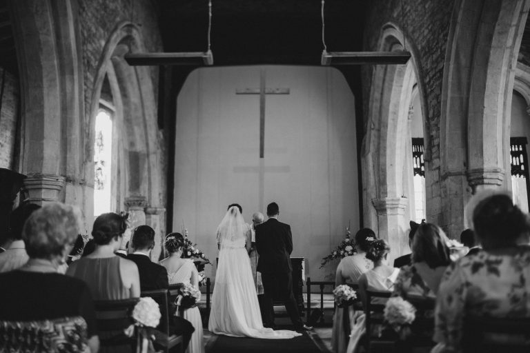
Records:
M155 341L155 327L160 323L161 313L157 302L148 296L140 298L133 309L134 325L125 330L128 337L137 334L137 353L155 352L153 341Z

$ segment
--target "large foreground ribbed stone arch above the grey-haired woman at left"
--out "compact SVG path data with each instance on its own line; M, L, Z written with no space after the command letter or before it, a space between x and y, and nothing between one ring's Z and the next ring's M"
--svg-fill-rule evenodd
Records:
M10 1L21 79L19 172L29 201L84 208L77 1Z

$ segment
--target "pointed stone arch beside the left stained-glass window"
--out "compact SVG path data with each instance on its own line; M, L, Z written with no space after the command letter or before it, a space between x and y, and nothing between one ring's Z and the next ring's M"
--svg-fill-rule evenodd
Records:
M153 82L148 68L132 67L124 60L127 52L144 52L137 25L119 23L110 34L101 54L92 89L86 128L86 149L93 155L95 116L99 108L101 87L107 76L115 99L115 125L120 133L119 188L122 196L119 208L130 213L133 225L150 225L157 234L152 259L158 260L164 235L165 208L161 195L163 175L160 173L160 149L156 119ZM94 179L92 159L86 159L89 180ZM89 167L91 166L91 167ZM91 179L90 179L91 178ZM127 239L126 239L127 240Z

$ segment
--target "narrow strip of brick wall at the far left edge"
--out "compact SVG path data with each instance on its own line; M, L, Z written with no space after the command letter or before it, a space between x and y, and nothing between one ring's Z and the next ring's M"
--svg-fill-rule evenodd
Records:
M2 83L2 77L4 82ZM0 168L13 169L14 141L19 115L19 80L0 68L0 87L3 84L0 110Z

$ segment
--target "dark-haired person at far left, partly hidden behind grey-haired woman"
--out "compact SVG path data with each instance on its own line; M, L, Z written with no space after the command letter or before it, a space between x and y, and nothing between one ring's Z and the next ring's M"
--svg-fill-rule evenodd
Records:
M29 256L26 252L26 244L22 240L22 228L26 219L41 208L34 203L20 205L11 214L11 232L8 234L6 243L3 244L6 251L0 254L0 272L8 272L20 268L28 262Z

